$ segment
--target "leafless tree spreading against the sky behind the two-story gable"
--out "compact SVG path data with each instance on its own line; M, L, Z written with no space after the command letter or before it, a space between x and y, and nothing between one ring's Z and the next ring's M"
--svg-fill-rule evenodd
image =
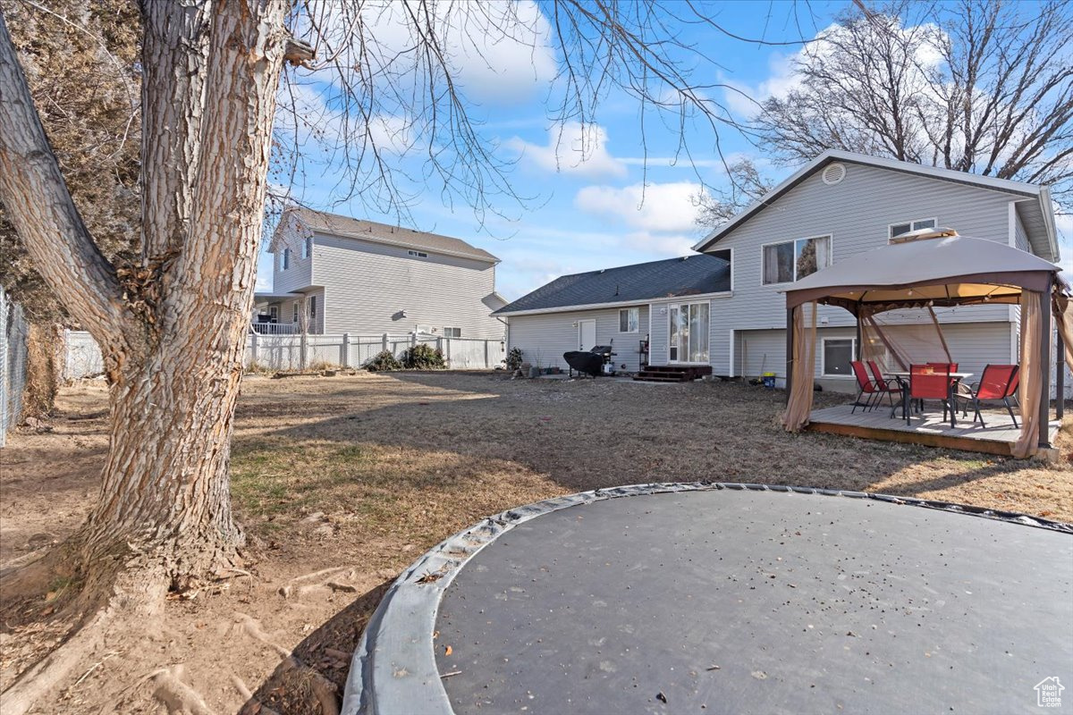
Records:
M1073 194L1073 10L1067 2L857 0L797 57L800 89L764 103L788 163L838 148Z

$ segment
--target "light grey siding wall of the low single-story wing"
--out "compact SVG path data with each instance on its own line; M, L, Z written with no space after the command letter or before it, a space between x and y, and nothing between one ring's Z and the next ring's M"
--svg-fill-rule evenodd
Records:
M577 327L574 323L594 319L596 344L612 345L615 348L615 366L619 370L626 364L627 372L637 372L641 369L638 348L641 341L648 334L648 306L641 304L637 308L641 309L637 332L618 331L618 308L509 316L508 343L510 348L519 348L527 362L565 370L569 366L562 359L562 354L578 349ZM583 349L590 347L592 345L585 345Z

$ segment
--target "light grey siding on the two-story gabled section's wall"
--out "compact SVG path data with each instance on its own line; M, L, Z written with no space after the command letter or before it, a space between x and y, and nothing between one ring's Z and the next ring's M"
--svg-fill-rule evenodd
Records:
M778 351L775 372L781 375L785 371L785 295L779 291L792 284L762 284L762 247L766 243L831 236L832 259L837 263L885 245L891 224L930 218L938 219L940 226L955 228L964 236L1003 243L1011 240L1010 205L1019 197L881 167L859 164L847 164L846 167L846 178L835 185L823 183L819 172L807 177L710 247L711 251L733 249L734 252L731 267L734 294L711 303L711 364L716 374L741 374L743 367L731 363L731 336L735 336L734 359L739 362L740 333L756 330L770 332L764 343L769 347L763 347L761 353ZM1006 306L965 307L937 310L937 313L944 325L965 326L958 328L959 334L965 333L962 342L958 347L951 345L955 360L979 362L975 354L959 355L957 351L962 346L976 349L972 346L991 339L999 341L997 349L1004 349L1001 361L1009 360L1011 311ZM892 313L890 317L897 318L898 314ZM656 323L653 321L652 326L653 363L657 356L666 360L665 348L657 351L655 347L656 338L666 332L665 317L658 327ZM855 318L846 310L822 306L819 324L824 331L849 328L852 334ZM665 338L662 340L665 342ZM759 363L748 369L756 367Z

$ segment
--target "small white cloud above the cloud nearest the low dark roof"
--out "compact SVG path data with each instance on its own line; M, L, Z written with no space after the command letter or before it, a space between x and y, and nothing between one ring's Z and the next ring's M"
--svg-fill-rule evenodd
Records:
M592 179L623 177L626 165L607 151L607 131L599 124L565 122L547 132L547 145L519 137L505 143L523 160L548 172L575 174Z

